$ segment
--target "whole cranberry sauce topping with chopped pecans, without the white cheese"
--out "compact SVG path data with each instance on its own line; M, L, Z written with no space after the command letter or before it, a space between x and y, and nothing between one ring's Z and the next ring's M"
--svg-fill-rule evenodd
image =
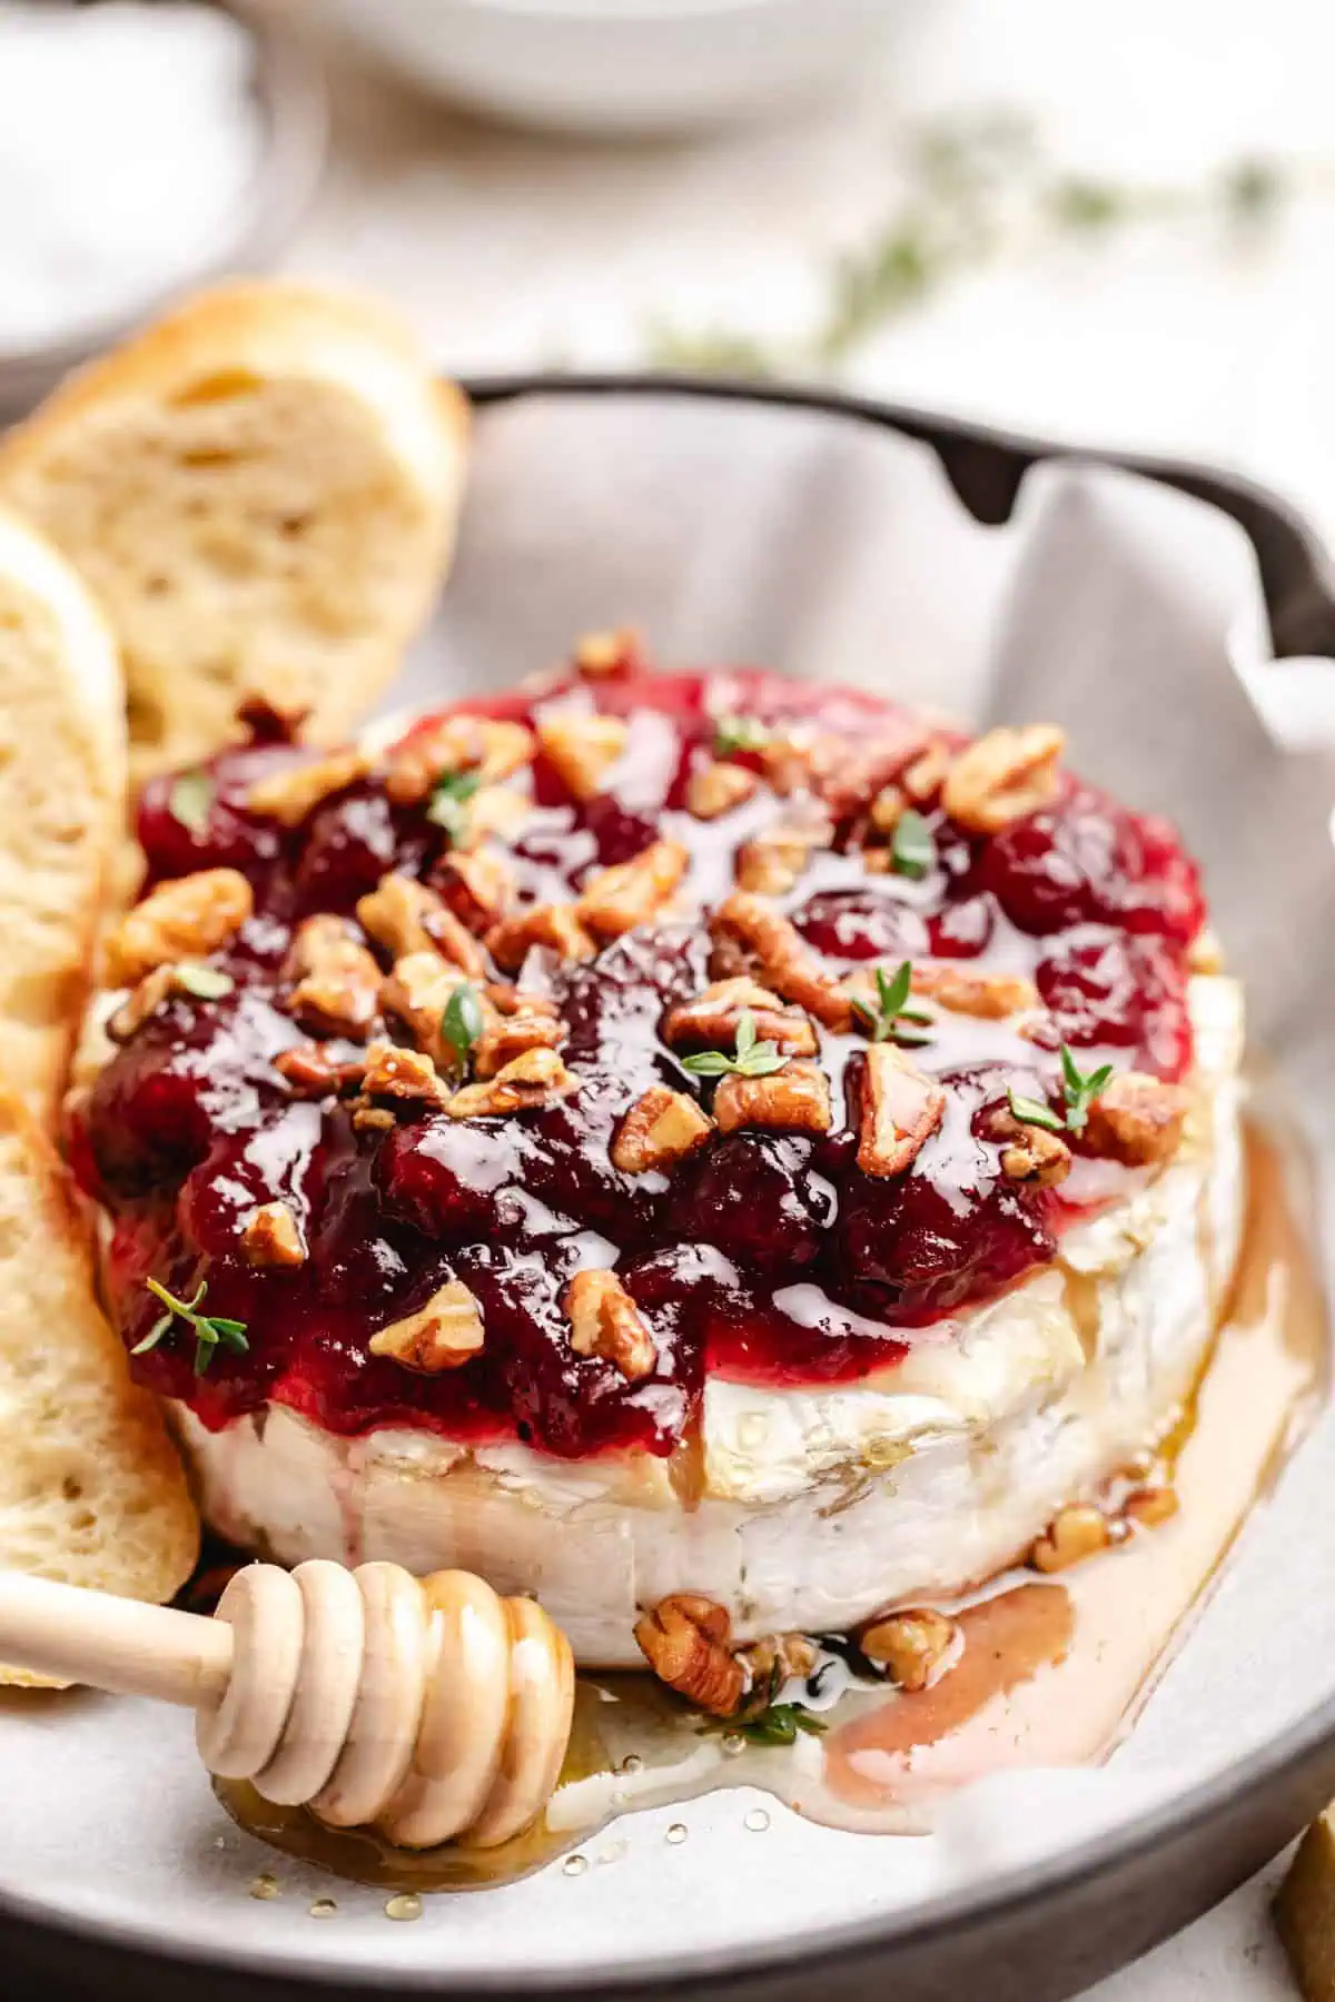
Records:
M518 755L478 775L494 745L472 731L442 749L432 719L374 765L330 761L302 797L318 755L256 733L144 795L148 891L236 871L252 913L122 951L138 987L72 1143L112 1217L126 1341L162 1313L150 1277L180 1299L206 1281L198 1311L244 1323L246 1353L196 1349L178 1317L136 1359L210 1425L280 1401L340 1433L666 1453L707 1369L853 1379L1055 1255L1071 1189L1001 1163L1009 1091L1061 1123L1063 1043L1083 1071L1191 1065L1195 869L1167 825L1051 757L1009 803L965 811L947 785L951 819L941 781L963 739L869 695L628 669L466 715L536 739L510 731ZM636 857L662 863L652 881ZM628 881L598 877L620 865ZM390 873L422 899L426 935L366 905L358 919ZM739 887L749 917L719 919ZM208 881L200 895L214 909ZM781 921L779 945L757 911ZM302 981L300 927L320 913L344 921L326 947L330 929L344 955L360 947L332 993L328 965ZM917 1019L877 1043L905 961ZM426 997L394 1001L414 967ZM466 1005L446 1011L460 969ZM949 991L943 971L981 987ZM741 1041L737 987L723 1029L671 1027L673 1007L747 977L769 995L745 1003ZM845 983L871 1019L849 1015ZM689 1061L737 1061L753 1025L753 1075ZM504 1101L508 1051L522 1077ZM903 1159L865 1153L873 1071L913 1099L895 1139L929 1107ZM586 1281L582 1317L580 1271L616 1275L610 1305L608 1281ZM444 1287L464 1313L432 1323L442 1357L400 1323ZM394 1339L372 1353L380 1331Z

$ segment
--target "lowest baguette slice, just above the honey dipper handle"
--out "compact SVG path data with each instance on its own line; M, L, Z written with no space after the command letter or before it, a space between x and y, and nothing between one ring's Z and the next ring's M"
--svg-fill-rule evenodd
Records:
M130 1381L50 1143L0 1093L0 1566L170 1600L200 1524L156 1397ZM0 1682L42 1678L0 1668Z

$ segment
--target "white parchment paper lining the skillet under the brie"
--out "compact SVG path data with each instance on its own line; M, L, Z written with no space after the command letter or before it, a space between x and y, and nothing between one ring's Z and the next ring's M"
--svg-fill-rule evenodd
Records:
M753 661L975 721L1059 721L1079 769L1173 813L1247 983L1253 1039L1321 1157L1329 1225L1335 729L1321 669L1295 677L1267 661L1241 529L1079 464L1037 468L1015 519L983 529L925 446L813 412L673 396L482 412L458 565L394 705L506 685L576 633L622 621L662 665ZM1315 701L1293 697L1305 677ZM386 1926L382 1896L342 1886L336 1958L352 1972L446 1956L454 1978L564 1968L578 1984L658 1954L685 1966L701 1952L797 1942L1023 1872L1227 1772L1333 1696L1327 1417L1107 1768L999 1776L963 1794L927 1840L837 1834L769 1802L771 1828L749 1834L757 1798L723 1794L626 1820L590 1844L578 1880L556 1866L510 1890L438 1900L416 1926ZM320 1952L306 1906L328 1884L284 1862L282 1900L240 1896L274 1858L220 1822L188 1736L188 1720L124 1702L82 1698L36 1716L0 1706L0 1884L196 1950ZM689 1840L669 1848L673 1820ZM598 1864L608 1846L614 1862Z

